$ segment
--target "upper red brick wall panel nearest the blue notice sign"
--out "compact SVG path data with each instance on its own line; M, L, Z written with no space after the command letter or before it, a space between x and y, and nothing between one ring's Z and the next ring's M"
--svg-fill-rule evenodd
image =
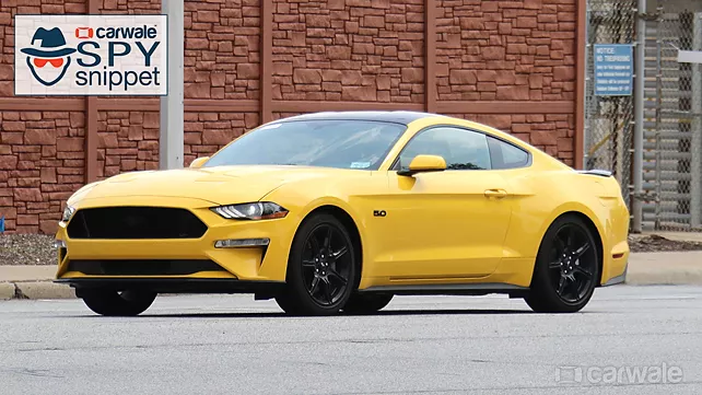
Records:
M574 98L574 0L444 0L438 10L440 100Z

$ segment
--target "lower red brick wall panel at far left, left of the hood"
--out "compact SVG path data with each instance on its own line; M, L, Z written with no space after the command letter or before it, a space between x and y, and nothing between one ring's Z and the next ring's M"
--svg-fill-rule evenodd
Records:
M85 179L83 113L2 112L0 216L5 229L55 229L62 204Z

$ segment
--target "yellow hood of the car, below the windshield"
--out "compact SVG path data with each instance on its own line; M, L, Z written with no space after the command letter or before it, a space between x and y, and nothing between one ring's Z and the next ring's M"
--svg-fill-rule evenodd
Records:
M133 172L86 186L84 190L75 193L74 199L161 196L230 205L257 201L283 184L314 177L338 176L339 172L344 171L264 165Z

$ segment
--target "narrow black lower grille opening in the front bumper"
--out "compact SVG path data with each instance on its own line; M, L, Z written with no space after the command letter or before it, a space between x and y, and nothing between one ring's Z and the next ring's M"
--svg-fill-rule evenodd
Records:
M209 259L71 260L68 271L89 276L184 276L198 271L226 271Z

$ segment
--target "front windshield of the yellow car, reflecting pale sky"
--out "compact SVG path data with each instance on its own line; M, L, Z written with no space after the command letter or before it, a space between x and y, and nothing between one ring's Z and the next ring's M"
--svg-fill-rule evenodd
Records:
M290 120L239 137L206 163L377 170L407 127L373 120Z

